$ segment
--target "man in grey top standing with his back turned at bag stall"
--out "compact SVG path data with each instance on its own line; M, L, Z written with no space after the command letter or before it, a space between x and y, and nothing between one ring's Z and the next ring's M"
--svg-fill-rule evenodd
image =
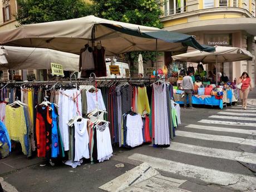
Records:
M189 109L193 109L193 106L192 106L192 91L193 91L193 88L194 88L194 83L193 83L193 80L192 80L192 75L193 75L193 72L191 71L188 71L186 73L187 75L185 77L183 77L183 80L182 80L182 86L183 86L183 90L184 90L184 97L185 97L185 100L184 100L184 107L187 108L187 97L189 96Z

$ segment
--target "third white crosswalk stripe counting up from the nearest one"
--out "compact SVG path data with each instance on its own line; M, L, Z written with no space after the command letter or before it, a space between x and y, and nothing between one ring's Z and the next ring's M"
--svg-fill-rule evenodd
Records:
M178 136L189 137L194 139L220 141L220 142L233 142L236 144L256 146L256 140L254 139L243 139L239 137L230 137L230 136L223 136L223 135L199 134L197 132L188 132L188 131L176 131L175 134Z

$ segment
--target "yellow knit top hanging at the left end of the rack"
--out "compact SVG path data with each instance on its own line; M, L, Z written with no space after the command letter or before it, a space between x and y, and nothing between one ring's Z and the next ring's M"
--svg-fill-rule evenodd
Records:
M10 139L21 143L23 154L27 155L24 135L27 134L23 107L14 108L6 106L6 128Z

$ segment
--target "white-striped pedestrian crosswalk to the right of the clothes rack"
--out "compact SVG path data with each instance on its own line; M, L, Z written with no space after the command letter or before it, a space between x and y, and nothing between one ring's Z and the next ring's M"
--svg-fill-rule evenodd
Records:
M256 191L256 177L236 161L242 159L245 164L256 164L255 150L242 151L238 147L243 145L248 149L256 149L253 137L256 135L256 106L248 106L247 110L239 107L242 108L229 107L176 130L174 141L164 151L179 154L182 157L180 160L167 155L150 156L140 153L132 154L129 159L148 163L153 168L177 175L178 178L199 179L207 184L227 186L233 191ZM225 162L227 169L221 169L221 166L211 168L207 163L202 165L200 161L189 161L192 156L206 158L209 164ZM248 172L239 173L234 165L242 166Z

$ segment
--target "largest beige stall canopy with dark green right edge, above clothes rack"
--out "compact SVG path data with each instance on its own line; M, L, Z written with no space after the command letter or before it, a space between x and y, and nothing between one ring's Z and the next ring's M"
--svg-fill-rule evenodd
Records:
M214 51L214 47L200 45L193 36L169 32L155 27L122 23L87 16L24 26L0 32L1 45L41 47L80 53L92 41L106 48L106 55L130 51L181 51L188 46L200 51Z

